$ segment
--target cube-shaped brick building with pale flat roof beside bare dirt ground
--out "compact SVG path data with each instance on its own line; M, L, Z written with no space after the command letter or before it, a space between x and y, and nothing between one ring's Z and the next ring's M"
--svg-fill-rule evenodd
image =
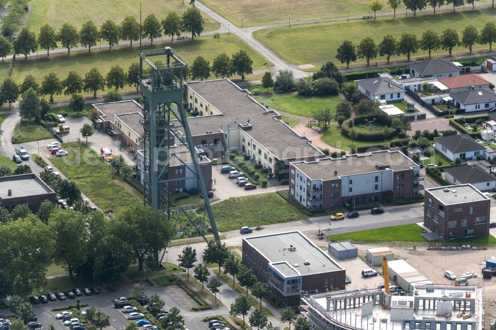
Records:
M489 234L491 199L471 184L425 190L424 225L443 240Z

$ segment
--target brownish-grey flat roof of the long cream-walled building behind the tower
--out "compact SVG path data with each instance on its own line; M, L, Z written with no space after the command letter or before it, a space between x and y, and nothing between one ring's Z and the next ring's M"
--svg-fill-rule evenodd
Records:
M227 125L231 129L238 128L235 120L244 124L249 119L252 129L245 133L280 160L323 155L307 139L284 122L273 118L279 113L264 113L266 109L251 98L247 90L239 88L232 81L218 79L186 85L222 113L188 118L192 135L203 135L206 131L217 133L221 126L225 131Z

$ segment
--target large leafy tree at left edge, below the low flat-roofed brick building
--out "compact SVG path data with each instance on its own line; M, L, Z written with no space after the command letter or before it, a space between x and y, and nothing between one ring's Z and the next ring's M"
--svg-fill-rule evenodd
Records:
M0 240L0 264L8 264L3 274L12 282L14 291L26 296L34 287L43 286L47 273L45 265L53 253L53 240L48 226L38 217L28 215L1 225L0 235L8 237Z

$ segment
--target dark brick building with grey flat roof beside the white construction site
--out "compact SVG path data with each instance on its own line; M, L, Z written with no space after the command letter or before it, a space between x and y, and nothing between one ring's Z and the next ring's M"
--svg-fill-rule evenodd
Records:
M345 288L345 269L300 231L243 238L243 264L286 306L298 305L302 291Z

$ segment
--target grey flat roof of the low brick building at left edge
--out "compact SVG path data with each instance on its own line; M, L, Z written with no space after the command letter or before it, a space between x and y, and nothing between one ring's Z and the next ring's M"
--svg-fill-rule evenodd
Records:
M8 190L12 195L8 196ZM0 179L0 199L22 198L54 193L36 174L4 176Z

